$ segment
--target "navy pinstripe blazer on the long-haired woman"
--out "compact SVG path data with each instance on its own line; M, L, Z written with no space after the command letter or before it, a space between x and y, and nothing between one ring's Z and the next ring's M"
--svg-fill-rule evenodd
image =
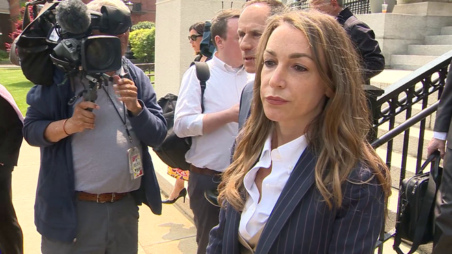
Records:
M342 207L329 209L314 184L316 157L306 149L298 165L267 220L255 253L373 253L384 217L384 192L371 170L357 166L342 188ZM240 215L229 204L221 209L220 223L210 231L207 254L239 254Z

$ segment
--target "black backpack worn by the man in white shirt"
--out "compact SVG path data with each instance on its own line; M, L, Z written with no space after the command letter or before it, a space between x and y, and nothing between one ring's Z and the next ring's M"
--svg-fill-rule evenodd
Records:
M201 110L204 112L204 90L205 81L210 77L209 66L205 62L192 62L191 65L196 66L196 75L201 86ZM174 133L174 112L176 109L177 95L168 93L157 101L158 105L162 107L163 116L166 119L168 134L163 140L160 147L154 147L153 150L157 153L160 160L171 168L180 168L182 170L189 170L190 164L185 161L185 154L192 145L192 139L179 138Z

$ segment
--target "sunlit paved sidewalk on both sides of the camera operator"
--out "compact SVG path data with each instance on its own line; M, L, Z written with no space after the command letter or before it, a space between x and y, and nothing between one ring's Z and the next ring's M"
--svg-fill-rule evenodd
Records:
M153 162L160 170L166 168L156 155L153 155ZM39 164L39 149L30 147L24 140L18 166L12 175L12 192L16 214L23 230L26 254L41 253L41 238L34 225L34 198ZM168 192L170 183L160 176L159 183L166 186L166 192ZM165 198L166 196L162 195L162 199ZM179 203L182 204L181 199L177 201L177 204ZM162 215L156 216L149 207L142 205L138 223L138 254L196 253L196 230L190 217L182 211L176 205L164 205Z

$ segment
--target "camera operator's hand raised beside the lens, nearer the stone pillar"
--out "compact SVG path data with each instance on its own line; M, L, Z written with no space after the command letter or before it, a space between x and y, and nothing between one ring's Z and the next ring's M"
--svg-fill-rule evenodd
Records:
M134 116L140 114L142 107L138 102L138 88L136 88L134 81L130 79L121 79L118 75L113 76L114 90L118 94L119 100L123 101L127 110Z

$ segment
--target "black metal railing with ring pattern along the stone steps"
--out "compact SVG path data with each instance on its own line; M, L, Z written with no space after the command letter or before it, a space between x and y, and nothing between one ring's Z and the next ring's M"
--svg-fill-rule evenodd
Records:
M401 181L413 175L426 158L425 129L433 127L451 60L452 51L449 51L389 86L377 99L371 99L373 134L378 137L371 143L391 169L394 192L398 192ZM384 242L395 233L393 226L399 210L398 200L397 213L392 213L393 218L390 216L393 221L386 221L381 231L379 254L383 253Z

